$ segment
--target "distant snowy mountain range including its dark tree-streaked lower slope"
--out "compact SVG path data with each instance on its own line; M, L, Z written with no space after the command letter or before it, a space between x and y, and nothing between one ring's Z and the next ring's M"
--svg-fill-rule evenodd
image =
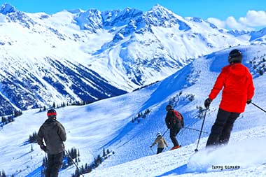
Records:
M4 3L0 107L8 114L12 107L113 97L162 80L199 56L248 44L250 38L160 5L148 12L89 9L47 15Z

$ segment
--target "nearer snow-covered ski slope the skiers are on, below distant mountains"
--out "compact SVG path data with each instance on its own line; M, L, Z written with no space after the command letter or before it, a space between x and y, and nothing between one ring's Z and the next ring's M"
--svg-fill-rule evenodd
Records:
M238 48L244 54L243 63L251 69L254 76L255 95L253 102L262 108L266 108L265 74L258 74L258 71L265 66L263 65L265 64L263 57L265 57L266 46L241 45ZM261 137L264 141L266 125L264 113L253 105L246 106L245 113L242 113L235 122L228 148L232 148L233 155L235 155L234 150L239 146L246 145L246 148L236 153L236 161L232 163L226 161L225 158L222 158L221 161L210 158L207 159L207 162L204 162L204 157L202 157L203 160L200 163L202 163L202 167L206 167L205 169L198 169L197 164L193 161L189 163L188 168L187 163L190 155L194 152L195 141L197 141L199 135L198 132L189 129L183 129L177 136L183 148L158 156L151 156L153 152L149 148L155 139L155 134L157 132L163 133L166 130L165 106L169 104L169 99L173 97L176 97L174 108L183 114L186 127L200 129L202 119L199 118L199 107L203 105L204 99L207 98L221 68L228 64L227 56L230 50L232 48L195 59L191 64L172 76L142 90L97 101L87 106L69 106L57 109L58 120L62 122L67 131L66 149L74 146L80 150L79 165L92 162L94 157L102 153L103 148L115 152L114 155L104 160L97 169L93 169L94 172L92 171L91 176L128 174L127 170L132 171L133 176L137 176L137 171L143 176L176 174L201 176L206 172L211 176L219 173L215 170L209 172L210 164L241 166L240 171L225 171L222 174L223 176L228 174L237 176L240 172L242 174L251 172L254 165L262 162L257 157L265 156L263 156L263 152L260 152L261 148L246 145L245 141L248 143L255 142L255 144L260 142L253 141L251 139L253 136ZM220 99L221 97L218 96L211 103L204 124L204 132L209 132L211 125L214 123ZM132 122L132 118L137 117L138 113L143 113L148 108L151 109L151 113L148 113L146 118L140 118L139 121ZM15 119L15 122L5 125L0 130L0 167L7 174L39 176L44 153L36 144L33 145L34 151L30 152L31 145L27 144L26 141L29 134L38 131L38 127L41 126L44 120L45 113L38 113L38 110L25 111L23 115ZM202 134L202 136L200 149L204 148L208 134ZM165 138L169 143L169 148L171 148L169 132L165 134ZM265 147L265 144L262 143L261 147ZM221 149L221 155L225 155L228 148ZM242 157L242 153L250 153L246 150L250 150L251 153L256 152L254 159L251 160L251 163L244 160L243 163L240 163L239 157ZM174 157L171 159L170 157L173 155ZM214 157L216 155L218 153L214 153ZM225 157L235 157L230 155ZM141 157L144 157L144 159L137 160ZM132 160L137 161L123 164ZM7 161L10 163L6 163ZM139 163L141 163L141 167ZM113 167L117 164L121 165ZM155 170L156 168L159 169ZM258 174L265 170L265 167L260 165L255 168L258 170ZM73 166L64 169L60 171L60 176L71 176L75 169ZM253 174L255 173L257 172L254 171Z

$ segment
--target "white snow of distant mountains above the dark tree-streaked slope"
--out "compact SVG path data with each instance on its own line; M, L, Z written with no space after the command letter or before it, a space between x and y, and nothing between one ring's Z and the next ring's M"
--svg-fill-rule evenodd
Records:
M160 5L146 13L134 8L63 10L52 15L19 13L25 16L17 19L13 13L0 14L3 64L4 58L25 63L41 62L45 57L66 59L90 67L126 91L167 78L194 58L230 45L246 45L251 38L233 36L204 20L183 18ZM162 26L149 23L157 21ZM182 25L190 29L183 30ZM29 70L27 66L23 69Z

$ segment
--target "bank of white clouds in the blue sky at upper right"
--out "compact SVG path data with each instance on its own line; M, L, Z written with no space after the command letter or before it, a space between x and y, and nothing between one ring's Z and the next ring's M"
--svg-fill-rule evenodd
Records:
M248 10L246 16L239 17L239 20L232 16L224 21L214 17L209 17L207 20L221 28L253 30L254 28L266 27L266 11Z

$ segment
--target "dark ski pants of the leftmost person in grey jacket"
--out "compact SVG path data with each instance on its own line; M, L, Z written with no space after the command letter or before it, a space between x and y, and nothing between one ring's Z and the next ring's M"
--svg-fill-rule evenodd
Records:
M59 153L55 155L48 154L48 164L45 171L45 177L57 177L58 171L62 167L64 153Z

